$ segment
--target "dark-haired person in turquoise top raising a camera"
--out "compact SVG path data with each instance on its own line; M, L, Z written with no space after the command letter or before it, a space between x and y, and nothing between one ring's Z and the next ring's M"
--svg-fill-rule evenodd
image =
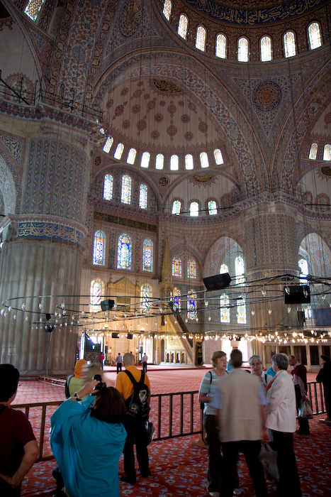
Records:
M116 388L99 380L100 376L86 383L51 417L52 452L70 497L120 496L125 403Z

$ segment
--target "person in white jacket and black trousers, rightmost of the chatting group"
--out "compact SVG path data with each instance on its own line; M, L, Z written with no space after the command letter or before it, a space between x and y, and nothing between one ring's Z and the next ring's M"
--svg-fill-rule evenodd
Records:
M300 481L293 450L296 431L296 393L287 372L286 354L274 354L271 364L276 376L267 386L266 426L271 433L271 447L277 452L280 479L277 496L301 497Z

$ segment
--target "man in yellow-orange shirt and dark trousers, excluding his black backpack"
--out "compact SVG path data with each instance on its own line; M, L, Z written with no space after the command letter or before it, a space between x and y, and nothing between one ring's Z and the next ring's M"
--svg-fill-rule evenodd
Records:
M138 368L133 366L134 356L128 352L123 356L123 364L125 371L121 371L116 376L115 388L123 395L125 404L128 408L128 403L133 395L133 382L131 381L128 373L133 376L136 382L140 382L143 378L143 383L145 384L145 401L147 405L150 404L150 380L148 379L145 371L140 371ZM127 373L128 371L128 373ZM150 475L149 458L147 451L147 431L145 423L147 417L142 417L141 413L137 416L130 415L129 410L125 415L123 420L123 425L127 432L127 437L125 440L125 446L123 449L123 463L125 476L121 477L122 481L129 484L135 484L135 454L133 452L133 445L135 444L135 449L137 453L138 465L140 469L140 474L143 478Z

